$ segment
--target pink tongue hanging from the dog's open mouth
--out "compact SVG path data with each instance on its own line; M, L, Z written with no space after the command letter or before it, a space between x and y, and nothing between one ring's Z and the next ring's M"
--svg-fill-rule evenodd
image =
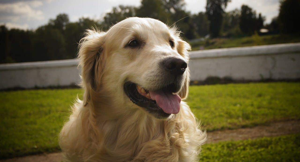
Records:
M151 99L156 101L156 104L167 114L177 114L180 110L181 98L179 95L149 91Z

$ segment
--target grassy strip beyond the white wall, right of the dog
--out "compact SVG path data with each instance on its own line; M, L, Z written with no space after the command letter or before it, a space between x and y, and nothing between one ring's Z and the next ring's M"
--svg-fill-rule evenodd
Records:
M199 46L204 46L204 49L229 48L229 47L244 47L258 46L268 44L295 43L300 42L300 34L295 35L253 35L242 38L215 38L200 42L189 42L192 50L199 50Z

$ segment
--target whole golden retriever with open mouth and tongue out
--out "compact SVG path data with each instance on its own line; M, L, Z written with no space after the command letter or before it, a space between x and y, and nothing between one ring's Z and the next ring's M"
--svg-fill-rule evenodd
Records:
M67 161L198 161L206 132L187 104L190 45L176 28L131 17L79 42L83 100L59 144Z

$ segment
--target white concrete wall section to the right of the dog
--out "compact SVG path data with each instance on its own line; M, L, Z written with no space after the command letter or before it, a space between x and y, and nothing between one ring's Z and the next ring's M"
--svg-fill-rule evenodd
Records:
M300 43L191 51L189 66L191 80L299 79Z

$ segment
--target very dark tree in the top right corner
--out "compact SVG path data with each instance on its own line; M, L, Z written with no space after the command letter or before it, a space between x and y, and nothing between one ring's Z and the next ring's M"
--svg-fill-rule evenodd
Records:
M280 31L283 33L300 32L300 1L281 0L278 15Z

